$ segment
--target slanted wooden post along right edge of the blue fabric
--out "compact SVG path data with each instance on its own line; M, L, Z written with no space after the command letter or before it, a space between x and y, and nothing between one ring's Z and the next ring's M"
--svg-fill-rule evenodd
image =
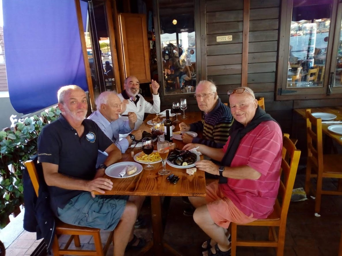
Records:
M84 68L86 69L90 108L91 108L91 112L93 112L93 110L95 109L95 97L94 97L94 91L93 91L93 82L91 81L91 72L90 72L90 66L89 66L89 61L88 61L86 38L84 37L84 28L83 28L83 22L82 22L80 0L75 0L75 7L76 7L76 14L77 14L78 30L79 30L80 39L81 39Z

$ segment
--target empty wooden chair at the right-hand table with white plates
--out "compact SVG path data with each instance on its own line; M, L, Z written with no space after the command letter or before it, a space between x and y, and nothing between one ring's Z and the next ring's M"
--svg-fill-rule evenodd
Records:
M315 127L315 131L312 129L313 126ZM308 195L310 192L311 178L317 178L316 191L314 191L314 194L316 194L315 213L319 213L321 195L342 195L342 191L322 189L322 181L324 178L342 179L341 155L323 155L322 119L314 117L311 114L311 109L306 110L306 134L307 162L305 193Z

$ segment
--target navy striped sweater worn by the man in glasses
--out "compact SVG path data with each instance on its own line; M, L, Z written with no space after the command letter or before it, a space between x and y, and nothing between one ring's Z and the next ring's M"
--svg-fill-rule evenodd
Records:
M190 131L203 131L202 139L194 138L192 143L222 148L228 140L233 121L231 109L219 98L215 108L204 114L201 121L190 124Z

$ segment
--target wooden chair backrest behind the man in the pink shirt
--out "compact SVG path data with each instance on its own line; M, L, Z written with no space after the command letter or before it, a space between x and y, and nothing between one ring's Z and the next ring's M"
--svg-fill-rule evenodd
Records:
M296 149L289 137L289 134L285 133L282 142L280 169L280 176L282 176L282 179L280 179L278 191L278 197L281 198L281 206L278 200L276 201L275 205L276 207L279 207L280 210L280 221L285 223L301 154L301 151Z

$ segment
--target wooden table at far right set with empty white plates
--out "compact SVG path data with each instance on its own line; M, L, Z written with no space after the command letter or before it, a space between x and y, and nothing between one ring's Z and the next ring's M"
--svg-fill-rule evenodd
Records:
M306 119L306 110L307 109L295 109L294 112L298 113L301 117ZM337 107L322 107L322 108L311 108L311 113L329 113L329 114L334 114L336 115L336 118L331 120L331 121L342 121L342 106L337 106ZM328 130L328 127L330 125L335 125L335 124L325 124L322 123L322 131L327 134L327 136L331 137L333 140L335 140L337 143L342 145L342 140L341 134L337 134L334 132L331 132ZM340 124L342 125L342 123Z

